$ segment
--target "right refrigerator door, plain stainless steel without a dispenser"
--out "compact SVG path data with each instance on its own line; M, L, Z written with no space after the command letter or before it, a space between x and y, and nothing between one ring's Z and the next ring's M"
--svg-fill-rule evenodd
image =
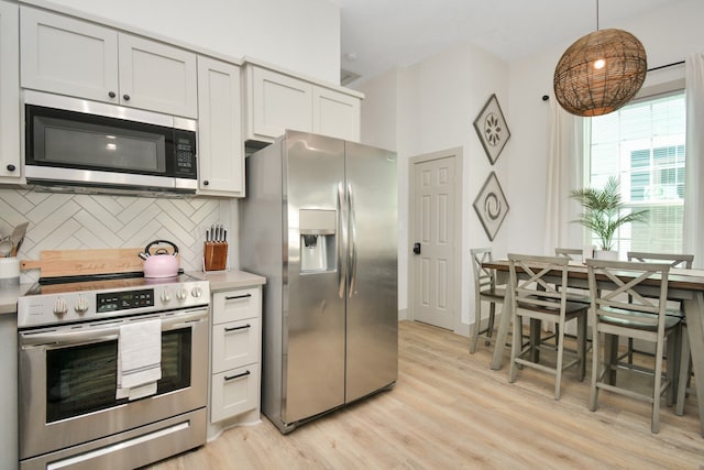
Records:
M398 375L396 155L345 142L346 402Z

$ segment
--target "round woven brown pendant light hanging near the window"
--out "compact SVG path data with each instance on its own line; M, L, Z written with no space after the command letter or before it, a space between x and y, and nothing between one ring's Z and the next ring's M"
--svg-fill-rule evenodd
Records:
M598 30L562 54L554 69L554 96L572 114L607 114L630 101L647 72L646 50L636 36L624 30Z

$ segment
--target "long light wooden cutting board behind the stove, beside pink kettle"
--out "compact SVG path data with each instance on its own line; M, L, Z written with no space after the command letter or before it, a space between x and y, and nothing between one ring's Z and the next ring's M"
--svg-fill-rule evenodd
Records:
M142 248L42 251L38 261L21 260L20 269L38 269L40 277L142 272L144 262L138 256L141 251Z

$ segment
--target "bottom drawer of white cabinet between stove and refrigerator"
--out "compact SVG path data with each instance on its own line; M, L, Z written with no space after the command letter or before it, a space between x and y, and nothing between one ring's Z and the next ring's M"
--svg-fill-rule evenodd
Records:
M258 407L258 364L212 375L210 420L216 423Z

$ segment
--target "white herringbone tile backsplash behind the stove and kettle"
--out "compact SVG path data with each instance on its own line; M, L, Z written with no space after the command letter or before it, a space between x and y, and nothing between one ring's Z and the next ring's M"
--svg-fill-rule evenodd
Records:
M200 271L206 229L222 223L230 241L230 267L237 267L237 200L131 196L89 196L0 189L0 237L29 222L18 258L38 260L43 250L144 248L153 240L178 245L180 266ZM34 282L38 271L22 273Z

